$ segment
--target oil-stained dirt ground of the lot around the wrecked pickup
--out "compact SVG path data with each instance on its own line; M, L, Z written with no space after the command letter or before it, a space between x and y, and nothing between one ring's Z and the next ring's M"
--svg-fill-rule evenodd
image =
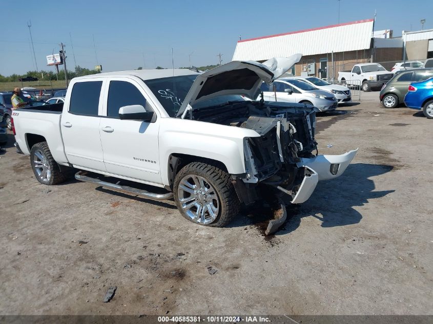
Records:
M10 135L0 314L432 314L433 120L378 95L318 117L319 154L358 155L271 237L248 212L209 228L172 201L39 184Z

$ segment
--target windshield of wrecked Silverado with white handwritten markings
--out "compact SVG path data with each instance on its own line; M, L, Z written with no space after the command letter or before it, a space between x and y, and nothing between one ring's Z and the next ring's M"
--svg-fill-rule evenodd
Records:
M175 117L198 74L144 80L170 117Z

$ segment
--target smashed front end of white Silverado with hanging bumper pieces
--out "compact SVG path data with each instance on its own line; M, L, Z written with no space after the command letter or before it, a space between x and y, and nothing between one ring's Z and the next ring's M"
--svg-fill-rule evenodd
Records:
M232 182L246 205L264 198L280 206L273 207L274 219L266 230L270 234L284 223L285 204L303 203L319 180L339 177L357 149L338 156L319 156L314 109L281 102L262 105L263 115L252 115L244 123L260 137L244 139L245 174L234 175Z

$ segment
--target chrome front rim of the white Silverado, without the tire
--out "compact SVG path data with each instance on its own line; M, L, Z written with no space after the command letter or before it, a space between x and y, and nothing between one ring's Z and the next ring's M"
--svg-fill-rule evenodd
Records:
M219 212L219 199L215 188L203 177L187 175L177 188L177 199L191 221L210 224Z

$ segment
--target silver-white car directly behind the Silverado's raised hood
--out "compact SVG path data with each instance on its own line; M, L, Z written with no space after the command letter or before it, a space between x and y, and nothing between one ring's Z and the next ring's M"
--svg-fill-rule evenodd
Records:
M299 102L311 104L320 111L337 108L337 98L328 91L320 90L314 85L293 78L281 78L271 85L262 83L263 99L266 101Z

